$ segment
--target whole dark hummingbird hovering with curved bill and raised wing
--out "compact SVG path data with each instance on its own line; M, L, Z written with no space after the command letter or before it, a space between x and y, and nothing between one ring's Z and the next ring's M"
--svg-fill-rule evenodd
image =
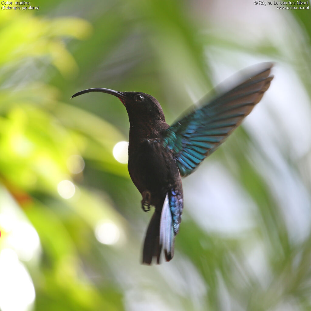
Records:
M72 95L103 92L125 106L129 123L128 172L142 195L144 211L155 208L143 246L142 263L174 256L183 212L182 177L197 166L239 126L270 86L272 63L261 63L244 81L211 100L203 98L190 113L169 126L159 102L142 92L91 88Z

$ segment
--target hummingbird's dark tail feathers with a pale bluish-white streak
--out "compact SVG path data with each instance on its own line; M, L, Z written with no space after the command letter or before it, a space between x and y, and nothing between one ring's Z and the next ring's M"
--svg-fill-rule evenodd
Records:
M147 229L142 262L151 264L155 257L157 263L160 262L162 246L164 248L165 259L170 261L174 256L175 231L173 216L170 210L168 194L165 197L162 211L156 208Z

